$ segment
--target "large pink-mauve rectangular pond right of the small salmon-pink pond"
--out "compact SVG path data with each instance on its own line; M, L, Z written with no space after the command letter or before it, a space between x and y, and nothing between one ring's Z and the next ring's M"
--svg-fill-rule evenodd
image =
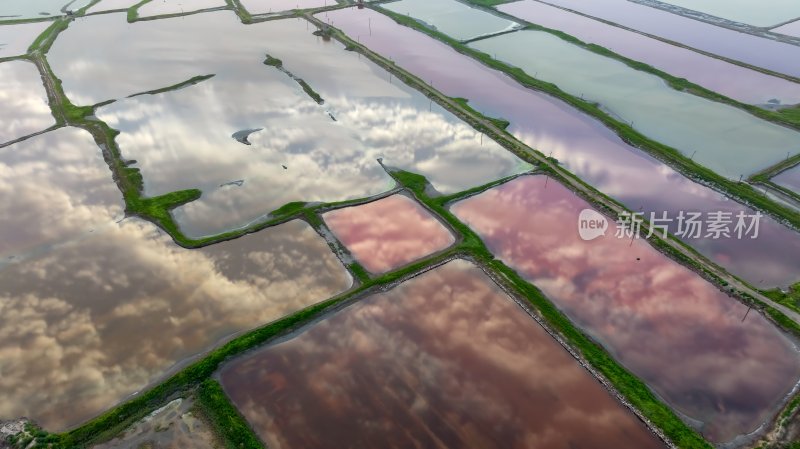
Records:
M552 179L523 176L452 211L710 441L770 419L800 377L795 345L644 240L616 238L614 222L581 240L588 207Z

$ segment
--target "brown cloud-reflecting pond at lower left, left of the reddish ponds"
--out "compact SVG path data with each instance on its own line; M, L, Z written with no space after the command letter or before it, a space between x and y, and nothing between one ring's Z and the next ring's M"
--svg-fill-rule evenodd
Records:
M200 250L136 219L0 269L0 418L63 430L221 339L347 289L307 224Z

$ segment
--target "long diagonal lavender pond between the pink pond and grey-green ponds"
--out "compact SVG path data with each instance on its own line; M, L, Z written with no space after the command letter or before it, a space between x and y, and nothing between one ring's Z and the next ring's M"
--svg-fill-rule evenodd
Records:
M478 111L509 120L509 131L518 138L552 154L570 171L633 210L659 215L667 211L670 217L681 210L753 213L625 144L596 120L525 89L503 73L382 14L351 8L331 11L328 17L336 27L430 80L445 94L469 98ZM766 217L761 219L758 239L692 239L687 243L759 287L788 286L800 279L800 235Z

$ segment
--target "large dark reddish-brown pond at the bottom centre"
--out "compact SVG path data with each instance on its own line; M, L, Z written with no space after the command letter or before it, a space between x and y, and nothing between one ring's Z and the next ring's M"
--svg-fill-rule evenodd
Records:
M220 377L268 447L664 447L460 260L235 359Z

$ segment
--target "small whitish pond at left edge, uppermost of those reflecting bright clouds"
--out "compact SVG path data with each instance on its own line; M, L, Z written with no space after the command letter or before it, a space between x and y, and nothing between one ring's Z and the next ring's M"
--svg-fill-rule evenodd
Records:
M39 70L32 62L0 63L0 104L0 144L44 131L56 123Z

